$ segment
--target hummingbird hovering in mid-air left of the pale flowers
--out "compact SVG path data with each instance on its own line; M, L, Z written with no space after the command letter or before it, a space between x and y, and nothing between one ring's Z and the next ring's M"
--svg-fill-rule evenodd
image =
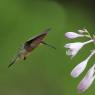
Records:
M31 39L29 39L28 41L26 41L22 48L20 49L20 51L18 52L18 54L16 55L15 59L11 62L11 64L9 64L8 68L10 66L12 66L14 63L16 63L18 60L22 59L25 60L27 58L27 56L36 48L38 47L39 44L44 44L48 47L51 47L53 49L56 49L54 46L49 45L47 43L44 42L44 38L47 36L48 31L50 31L51 29L47 29L45 30L43 33L37 35L36 37L33 37Z

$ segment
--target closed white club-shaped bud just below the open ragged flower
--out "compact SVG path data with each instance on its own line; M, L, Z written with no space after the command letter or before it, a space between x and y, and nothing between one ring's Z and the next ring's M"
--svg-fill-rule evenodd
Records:
M76 78L78 77L86 68L87 63L89 59L95 54L95 51L93 51L84 61L82 61L80 64L78 64L71 72L71 76Z

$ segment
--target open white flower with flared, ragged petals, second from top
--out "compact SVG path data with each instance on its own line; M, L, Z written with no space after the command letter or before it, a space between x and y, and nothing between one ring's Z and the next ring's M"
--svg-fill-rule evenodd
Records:
M76 42L76 43L66 44L64 47L69 48L69 50L66 52L66 54L71 57L74 57L84 45L91 43L93 41L94 40L89 40L86 42Z

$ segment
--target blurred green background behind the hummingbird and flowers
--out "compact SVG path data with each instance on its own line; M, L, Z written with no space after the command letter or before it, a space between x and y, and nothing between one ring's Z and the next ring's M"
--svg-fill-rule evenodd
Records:
M64 45L87 39L71 41L64 33L83 28L94 33L94 9L93 0L0 0L0 95L78 95L76 87L95 60L77 79L70 71L94 46L85 46L71 60ZM45 41L57 49L40 45L25 61L8 68L26 40L49 27ZM82 94L93 95L94 85Z

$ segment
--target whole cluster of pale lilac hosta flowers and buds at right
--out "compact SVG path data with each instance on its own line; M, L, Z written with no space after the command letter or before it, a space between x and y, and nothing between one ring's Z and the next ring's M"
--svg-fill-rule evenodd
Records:
M94 35L91 36L90 33L87 31L87 29L78 30L77 33L75 32L67 32L65 33L65 37L68 39L75 39L79 37L86 37L88 40L86 42L74 42L74 43L68 43L64 47L68 50L66 51L66 54L70 56L71 58L75 57L76 54L80 51L80 49L89 44L94 44L95 37ZM77 66L74 67L74 69L71 71L71 76L73 78L77 78L86 68L88 61L91 59L91 57L95 54L95 50L91 50L89 56L85 58L81 63L79 63ZM78 92L84 92L86 91L92 84L92 82L95 79L95 64L92 65L92 67L88 70L84 78L80 81L80 83L77 86Z

